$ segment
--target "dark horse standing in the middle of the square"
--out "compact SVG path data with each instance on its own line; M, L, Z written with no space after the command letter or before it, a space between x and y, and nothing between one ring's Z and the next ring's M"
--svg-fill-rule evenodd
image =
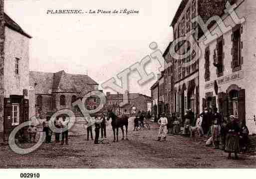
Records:
M112 119L111 121L111 126L112 126L112 130L114 133L114 141L113 142L118 142L118 129L121 128L122 133L123 133L123 138L122 140L124 140L124 126L125 126L125 130L126 130L126 140L128 140L127 138L127 130L128 130L128 116L123 115L122 117L118 117L112 110L108 111L108 120ZM116 134L115 134L116 131Z

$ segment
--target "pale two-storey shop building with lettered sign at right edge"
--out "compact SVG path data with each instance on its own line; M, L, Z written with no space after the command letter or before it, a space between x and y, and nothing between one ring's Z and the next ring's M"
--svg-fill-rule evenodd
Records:
M238 20L229 13L221 15L231 28L221 30L215 23L210 32L218 37L209 43L200 40L200 111L218 107L224 117L237 115L252 134L256 133L256 1L236 0L236 4Z

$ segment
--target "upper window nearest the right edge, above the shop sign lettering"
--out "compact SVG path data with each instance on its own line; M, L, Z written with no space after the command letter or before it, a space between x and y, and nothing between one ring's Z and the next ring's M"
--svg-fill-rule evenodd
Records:
M242 32L242 26L241 24L236 25L232 31L232 41L233 41L233 47L232 47L232 63L231 68L233 69L233 72L241 70L242 66L242 48L243 48L243 42L241 41L241 32Z

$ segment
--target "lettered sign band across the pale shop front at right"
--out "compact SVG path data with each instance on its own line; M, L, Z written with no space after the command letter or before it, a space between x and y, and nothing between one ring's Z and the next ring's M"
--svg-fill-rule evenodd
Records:
M217 81L218 85L222 85L222 84L226 84L226 83L229 83L232 81L241 80L243 78L244 78L244 71L239 71L237 73L233 73L231 75L221 77L221 78L217 79L216 81ZM215 81L210 81L210 82L206 83L205 89L213 88L214 82Z

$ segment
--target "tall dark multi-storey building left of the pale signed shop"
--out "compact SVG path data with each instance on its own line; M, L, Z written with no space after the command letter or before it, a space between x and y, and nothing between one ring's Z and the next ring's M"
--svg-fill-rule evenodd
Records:
M172 20L174 42L170 53L176 52L171 60L174 65L174 111L182 118L187 109L199 114L200 49L197 44L204 29L201 29L197 21L192 22L192 19L200 17L206 22L212 16L222 14L226 2L227 0L182 0ZM187 41L189 38L193 39L190 43ZM184 57L188 52L189 55Z

